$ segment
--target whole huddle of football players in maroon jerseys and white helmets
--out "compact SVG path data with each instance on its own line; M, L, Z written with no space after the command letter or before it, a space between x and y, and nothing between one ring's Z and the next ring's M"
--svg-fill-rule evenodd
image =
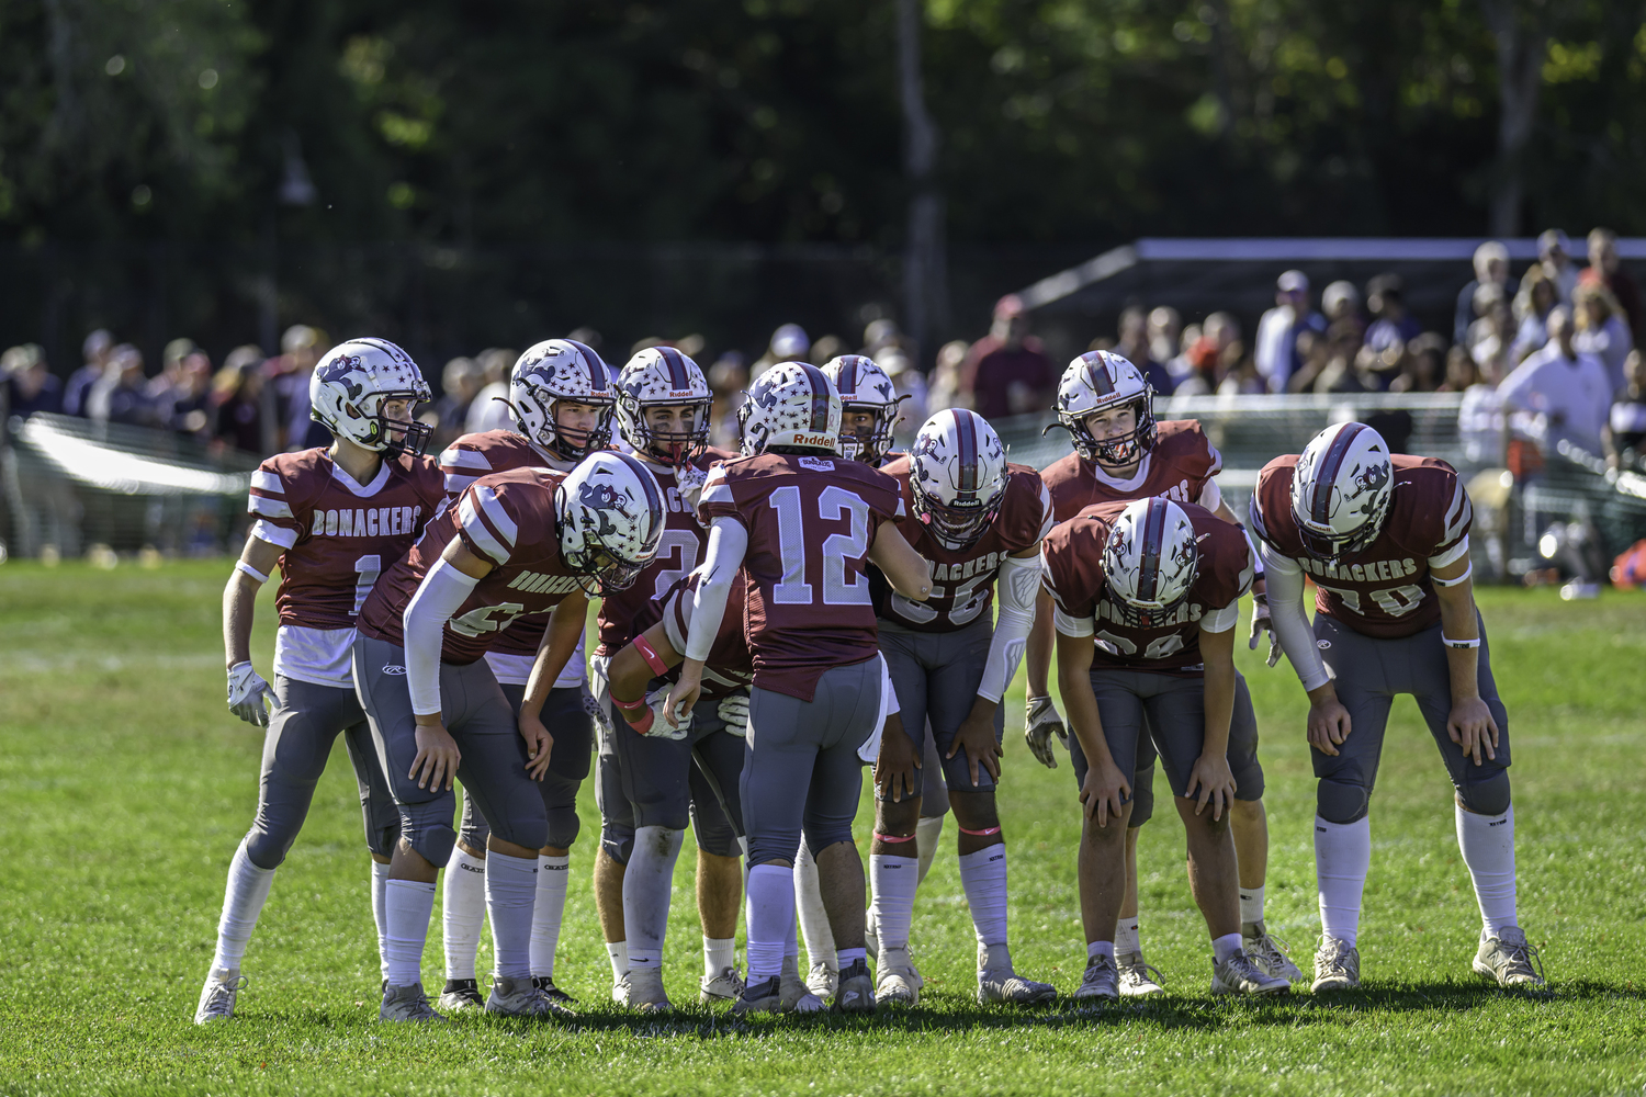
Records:
M1508 717L1470 586L1473 513L1442 461L1338 424L1262 469L1241 523L1198 423L1157 423L1142 373L1103 350L1063 373L1057 416L1075 452L1044 472L1009 462L966 410L933 414L892 452L900 398L861 355L757 377L741 454L708 446L709 386L670 347L614 375L583 344L537 344L510 378L517 429L463 436L438 461L415 418L430 390L400 347L332 349L309 393L334 441L253 474L253 525L224 592L229 706L267 737L196 1023L234 1016L258 913L339 734L370 852L384 1020L573 1015L555 954L591 758L616 1003L672 1008L662 957L688 827L703 1003L918 1002L914 905L950 811L978 1000L1052 1002L1060 990L1019 974L1007 941L1002 699L1025 656L1029 748L1052 768L1068 758L1068 808L1083 812L1075 998L1165 993L1137 910L1157 765L1187 834L1213 993L1358 987L1396 694L1417 701L1457 793L1481 911L1473 970L1542 982L1516 914ZM270 684L250 632L277 567ZM1264 924L1258 720L1233 661L1246 594L1249 643L1267 633L1269 666L1284 653L1310 701L1312 977ZM599 643L584 658L589 599ZM866 766L867 872L853 837ZM436 888L446 972L431 1002Z

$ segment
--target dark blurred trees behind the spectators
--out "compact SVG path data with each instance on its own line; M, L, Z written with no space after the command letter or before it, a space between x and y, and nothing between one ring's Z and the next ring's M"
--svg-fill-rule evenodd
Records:
M1646 232L1646 0L918 10L933 339L1137 235ZM897 35L877 0L7 0L0 337L849 337L902 309Z

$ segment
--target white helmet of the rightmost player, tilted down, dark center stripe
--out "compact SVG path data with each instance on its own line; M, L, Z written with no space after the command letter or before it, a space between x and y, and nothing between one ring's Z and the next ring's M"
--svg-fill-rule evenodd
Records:
M1389 444L1365 423L1309 439L1292 470L1292 518L1317 559L1353 556L1378 539L1394 500Z

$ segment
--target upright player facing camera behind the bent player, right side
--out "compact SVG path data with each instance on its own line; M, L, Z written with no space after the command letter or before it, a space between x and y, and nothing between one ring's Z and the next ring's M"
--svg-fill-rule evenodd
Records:
M1053 462L1042 474L1052 493L1057 521L1068 521L1093 503L1129 503L1154 495L1179 503L1200 503L1218 518L1239 526L1239 518L1223 502L1216 475L1223 457L1193 419L1155 423L1154 391L1136 365L1108 350L1083 354L1063 370L1057 395L1058 424L1075 442L1075 452ZM1248 538L1249 543L1249 538ZM1256 556L1256 548L1253 548ZM1253 579L1251 646L1269 627L1264 576ZM1050 738L1067 742L1063 720L1052 706L1047 668L1052 661L1052 600L1042 594L1035 627L1029 636L1029 719L1025 735L1035 758L1057 768ZM1269 638L1269 666L1281 651ZM1085 781L1086 758L1080 743L1067 743L1076 786ZM1154 816L1154 747L1139 743L1137 773L1132 778L1132 814L1126 832L1126 901L1114 949L1124 997L1164 993L1157 974L1142 956L1137 929L1137 831ZM1246 679L1234 674L1234 715L1230 724L1230 768L1236 793L1230 809L1234 852L1239 857L1239 906L1244 947L1271 975L1300 982L1304 974L1269 936L1264 924L1264 880L1269 868L1269 821L1262 808L1262 765L1258 761L1258 717Z

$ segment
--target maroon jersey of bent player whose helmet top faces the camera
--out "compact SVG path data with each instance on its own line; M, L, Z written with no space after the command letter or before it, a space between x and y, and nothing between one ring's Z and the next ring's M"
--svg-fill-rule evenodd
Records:
M1103 546L1126 503L1098 503L1062 523L1040 549L1042 586L1065 617L1093 623L1091 669L1200 673L1200 618L1236 602L1251 587L1246 535L1205 507L1179 503L1195 526L1200 571L1167 620L1142 628L1121 618L1106 594Z

